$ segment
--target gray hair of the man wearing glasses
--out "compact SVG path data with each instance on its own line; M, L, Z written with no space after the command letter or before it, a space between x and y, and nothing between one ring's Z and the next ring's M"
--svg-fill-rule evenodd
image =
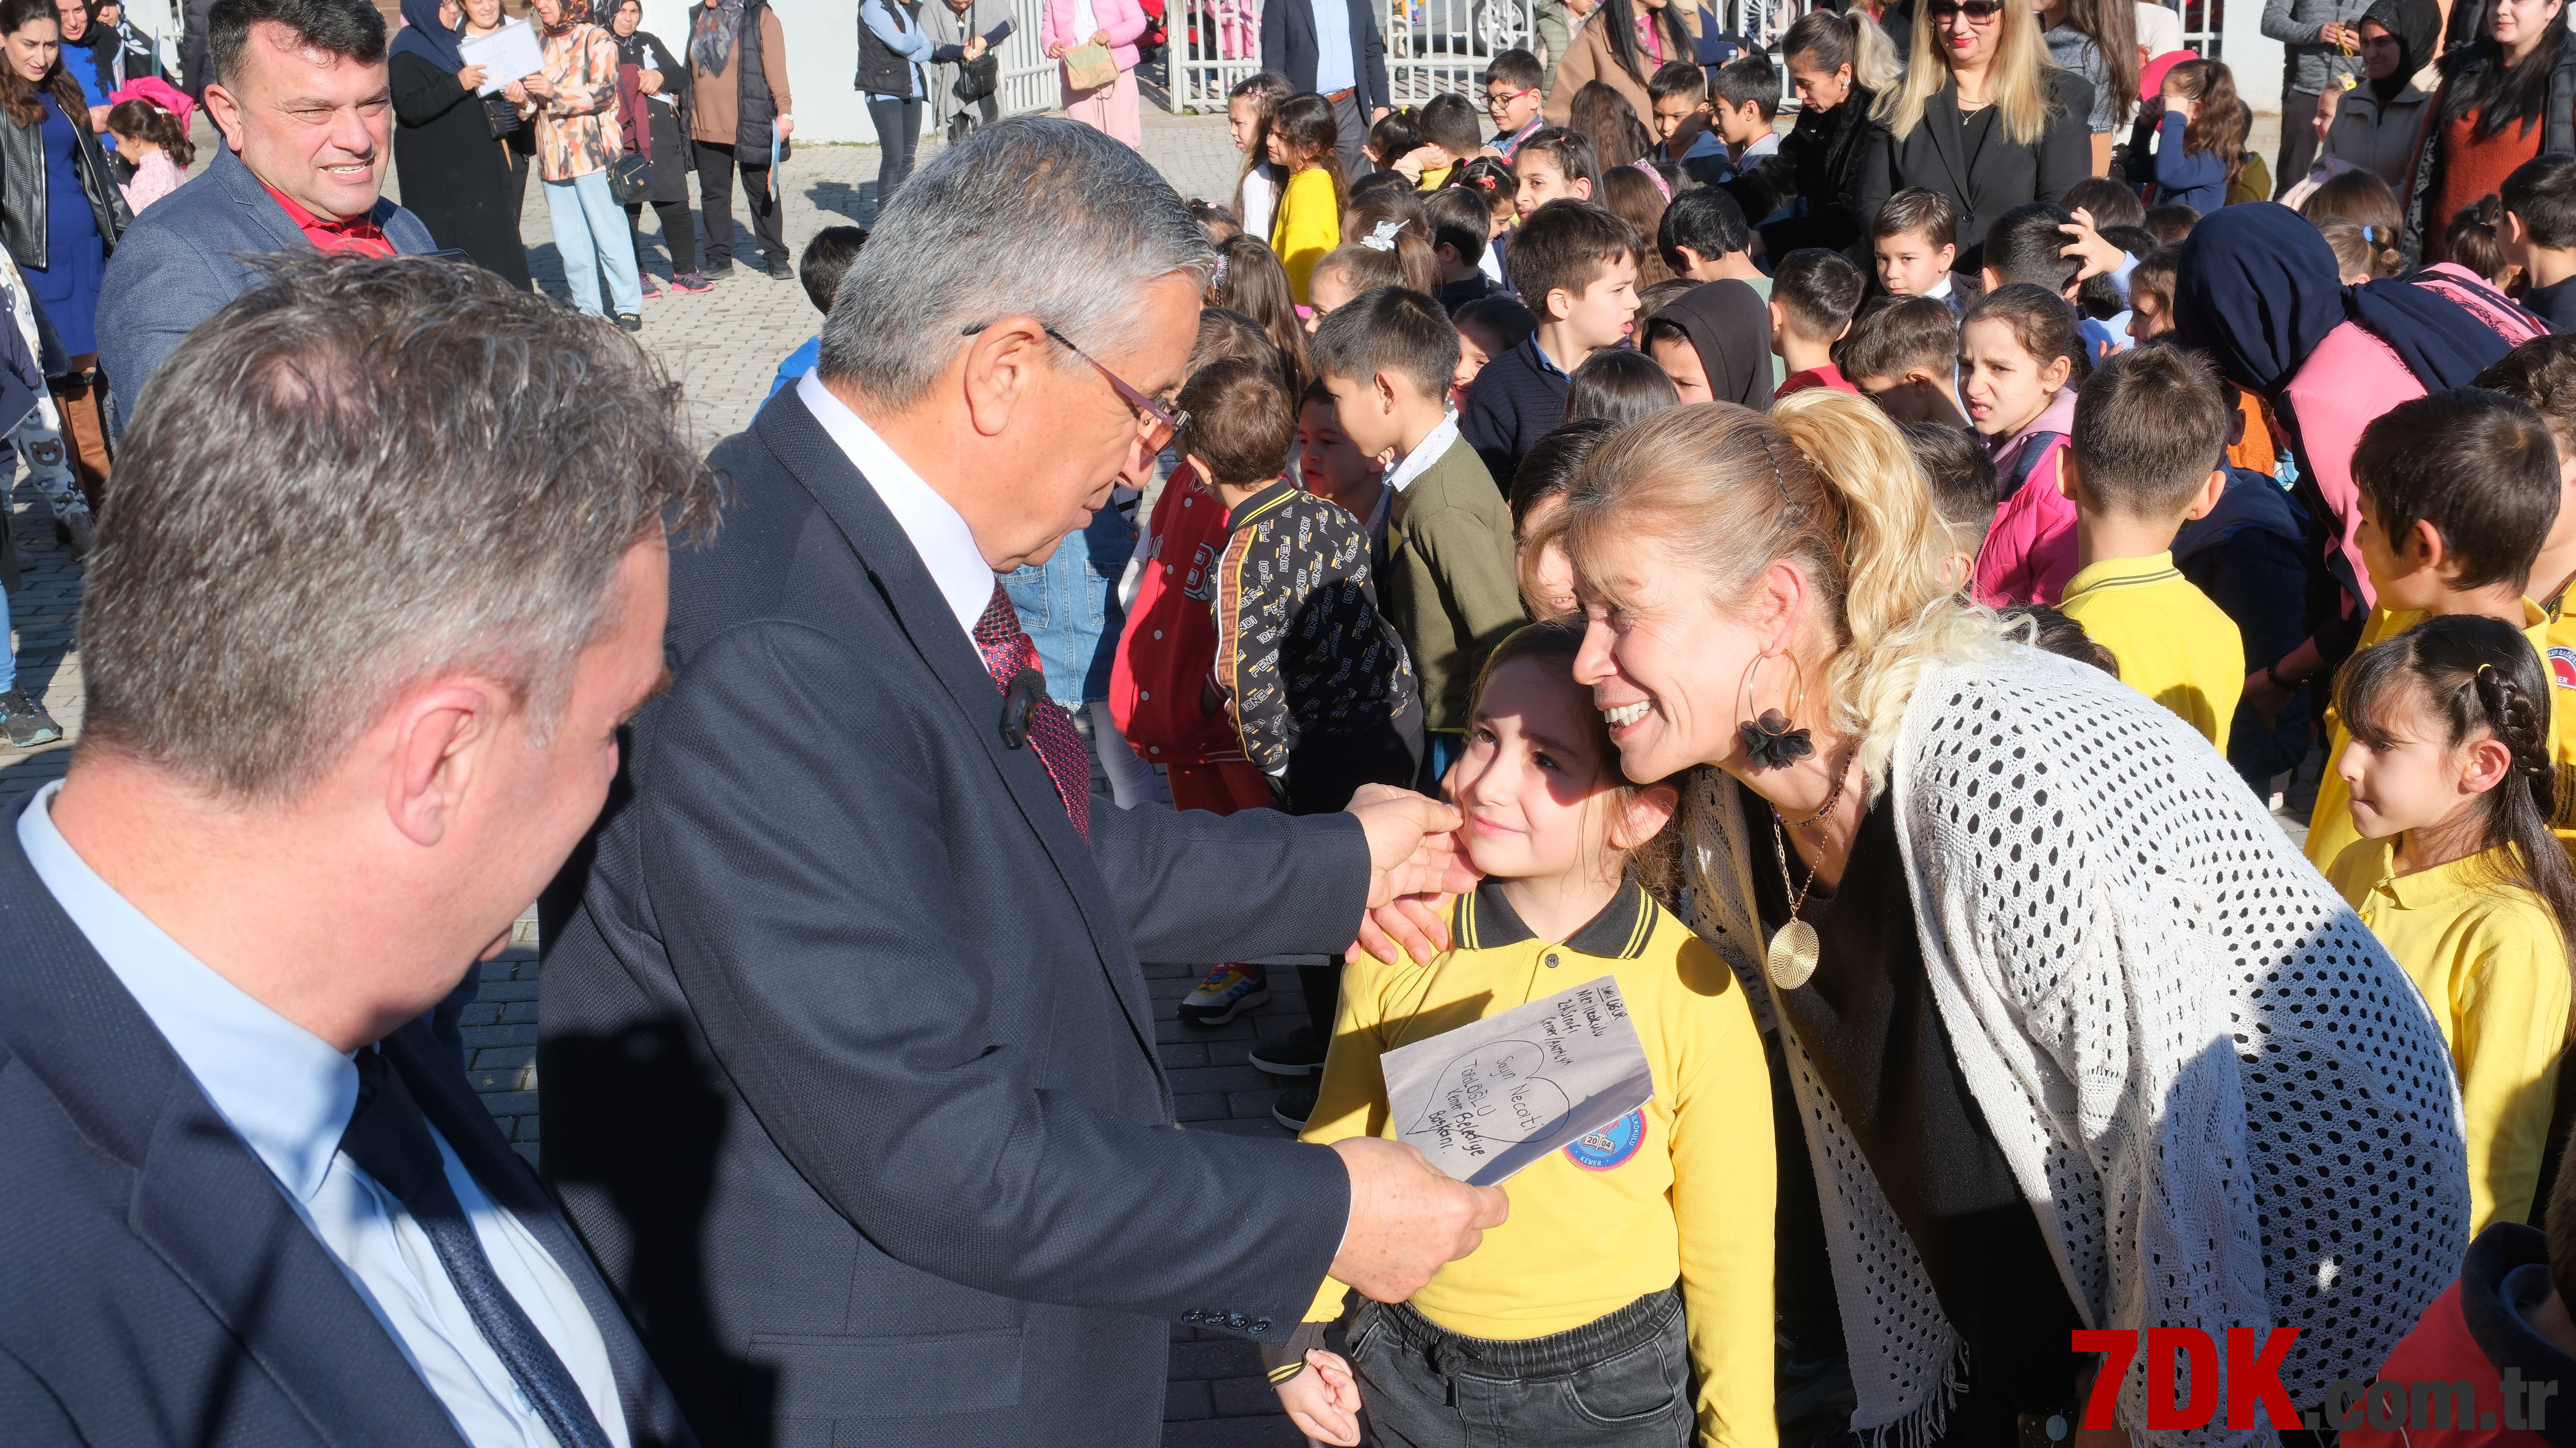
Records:
M1180 193L1123 142L1059 119L979 126L912 173L868 234L822 325L822 376L907 407L969 327L1002 317L1115 350L1139 335L1146 283L1206 286L1213 268Z

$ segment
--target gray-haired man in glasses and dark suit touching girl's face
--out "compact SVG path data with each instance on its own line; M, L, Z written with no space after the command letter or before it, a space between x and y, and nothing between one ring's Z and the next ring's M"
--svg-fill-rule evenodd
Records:
M997 580L1154 466L1211 265L1133 149L979 129L711 459L538 1072L546 1172L714 1443L1141 1448L1172 1322L1278 1340L1327 1273L1394 1301L1502 1221L1394 1141L1177 1131L1139 969L1342 951L1466 884L1455 812L1095 801Z

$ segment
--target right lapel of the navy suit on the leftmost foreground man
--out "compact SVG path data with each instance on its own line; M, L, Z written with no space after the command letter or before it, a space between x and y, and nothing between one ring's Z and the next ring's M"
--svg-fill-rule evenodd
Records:
M644 1353L644 1340L626 1322L626 1309L608 1291L608 1281L600 1278L582 1239L572 1234L572 1224L538 1185L536 1172L500 1139L492 1113L466 1085L456 1059L438 1043L428 1018L386 1036L384 1054L402 1072L402 1085L412 1090L420 1113L430 1118L430 1126L438 1126L456 1159L474 1172L474 1183L546 1247L554 1265L582 1293L582 1306L590 1309L590 1322L608 1348L608 1366L618 1378L618 1402L626 1409L634 1445L690 1443L680 1407Z

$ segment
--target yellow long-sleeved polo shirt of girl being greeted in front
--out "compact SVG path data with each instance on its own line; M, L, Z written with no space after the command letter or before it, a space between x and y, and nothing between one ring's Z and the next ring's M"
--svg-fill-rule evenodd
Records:
M1654 1100L1502 1183L1512 1219L1414 1293L1466 1337L1582 1327L1680 1278L1700 1445L1777 1443L1772 1422L1770 1069L1744 984L1633 881L1566 940L1540 940L1497 881L1450 907L1455 948L1430 966L1342 974L1306 1141L1394 1136L1378 1054L1615 976ZM1342 1314L1324 1281L1309 1322Z

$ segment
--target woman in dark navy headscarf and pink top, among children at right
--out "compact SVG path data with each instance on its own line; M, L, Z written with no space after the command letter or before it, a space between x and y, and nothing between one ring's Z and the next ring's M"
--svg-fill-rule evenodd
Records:
M2174 332L2272 405L2324 554L2308 642L2246 678L2246 703L2275 714L2300 680L2331 678L2370 618L2352 487L2362 428L2409 397L2470 386L2548 325L2458 265L2344 286L2334 247L2298 211L2228 206L2182 242Z

